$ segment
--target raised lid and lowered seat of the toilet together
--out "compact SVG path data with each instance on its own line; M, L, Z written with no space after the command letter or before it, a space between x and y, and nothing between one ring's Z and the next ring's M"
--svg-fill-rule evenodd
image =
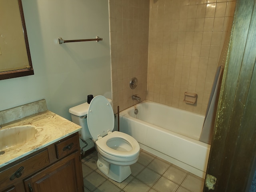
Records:
M96 140L97 148L106 156L124 158L124 161L138 158L140 146L132 136L117 131L111 132L114 129L114 112L104 96L98 95L92 99L88 109L87 124L92 138ZM109 142L114 145L112 148L108 146Z

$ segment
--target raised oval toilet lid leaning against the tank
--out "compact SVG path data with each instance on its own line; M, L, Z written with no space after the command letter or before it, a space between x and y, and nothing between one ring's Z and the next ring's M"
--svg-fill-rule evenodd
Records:
M108 134L114 129L114 112L110 102L102 95L94 97L87 114L88 129L92 138Z

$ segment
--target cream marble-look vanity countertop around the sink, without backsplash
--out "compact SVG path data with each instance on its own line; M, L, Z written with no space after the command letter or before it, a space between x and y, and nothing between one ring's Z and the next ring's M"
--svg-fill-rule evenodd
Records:
M6 150L6 152L0 155L0 168L10 164L24 156L27 156L39 149L42 149L60 139L63 139L81 129L81 126L66 120L65 118L46 110L38 114L22 118L5 124L0 129L8 129L14 126L34 126L37 130L35 137L27 141L22 146L14 148L11 150Z

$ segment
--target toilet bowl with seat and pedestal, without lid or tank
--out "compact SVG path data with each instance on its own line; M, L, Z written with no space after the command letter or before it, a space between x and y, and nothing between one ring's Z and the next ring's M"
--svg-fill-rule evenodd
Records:
M127 136L130 135L114 131L96 141L98 169L117 182L122 182L131 174L130 165L139 158L138 142Z

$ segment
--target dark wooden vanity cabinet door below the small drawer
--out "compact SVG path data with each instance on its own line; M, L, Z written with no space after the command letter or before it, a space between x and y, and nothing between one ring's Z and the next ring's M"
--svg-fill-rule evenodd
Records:
M24 180L26 192L82 192L78 151Z

